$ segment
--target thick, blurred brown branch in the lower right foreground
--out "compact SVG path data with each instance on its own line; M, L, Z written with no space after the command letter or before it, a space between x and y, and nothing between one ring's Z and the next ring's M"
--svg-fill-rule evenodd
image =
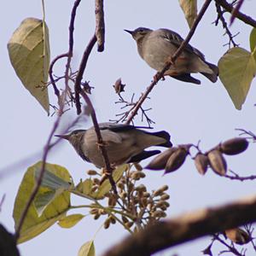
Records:
M108 250L104 256L148 256L201 236L256 221L256 196L161 221Z

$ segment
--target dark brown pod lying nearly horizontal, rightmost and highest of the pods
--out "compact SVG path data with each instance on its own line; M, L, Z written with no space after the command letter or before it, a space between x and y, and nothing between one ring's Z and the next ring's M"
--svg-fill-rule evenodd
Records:
M240 154L248 147L247 139L235 137L220 144L220 150L224 154Z

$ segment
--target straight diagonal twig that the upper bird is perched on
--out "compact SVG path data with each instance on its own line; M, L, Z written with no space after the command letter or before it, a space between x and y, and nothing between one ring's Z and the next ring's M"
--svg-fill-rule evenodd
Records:
M180 46L178 47L176 52L170 57L171 61L168 61L166 63L166 67L164 67L159 73L155 74L154 80L151 82L151 84L149 84L147 90L143 93L143 96L141 96L141 98L137 102L136 107L132 110L130 116L128 117L128 119L126 121L126 124L131 123L131 120L135 117L135 115L137 115L138 110L141 108L143 102L147 99L148 94L151 92L151 90L153 90L154 86L159 82L159 80L161 78L163 78L166 70L168 70L173 65L173 63L177 60L177 57L179 55L181 55L181 53L183 52L183 49L189 44L189 40L194 35L196 27L198 26L202 16L205 14L205 12L211 2L212 2L212 0L206 0L206 2L204 3L204 5L201 8L201 11L199 12L199 14L196 17L196 19L193 23L193 26L191 26L188 36L185 38L183 43L180 44Z

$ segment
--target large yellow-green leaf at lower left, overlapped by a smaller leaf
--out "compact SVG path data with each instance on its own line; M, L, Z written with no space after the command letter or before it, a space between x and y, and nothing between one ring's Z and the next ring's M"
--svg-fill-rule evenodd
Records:
M37 172L38 169L41 169L41 167L41 161L29 167L20 183L20 188L15 198L15 207L13 212L13 217L15 219L15 230L19 225L21 214L23 213L26 203L30 198L32 190L35 186L35 172ZM66 168L47 163L45 165L45 169L48 172L54 173L55 176L60 177L67 183L70 182L70 174L67 172ZM52 189L40 187L38 195L44 195L49 191L52 191ZM66 216L69 207L70 193L68 191L55 196L55 199L44 208L44 212L42 212L40 217L38 217L37 209L34 203L32 203L32 206L29 208L25 221L20 230L20 238L18 242L20 243L30 240L33 237L41 234L44 230L47 230L52 224L55 224L57 220Z

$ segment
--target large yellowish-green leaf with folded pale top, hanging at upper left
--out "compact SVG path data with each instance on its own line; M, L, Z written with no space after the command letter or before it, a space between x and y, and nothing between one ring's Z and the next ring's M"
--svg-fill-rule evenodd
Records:
M49 31L35 18L23 20L8 43L9 58L22 84L49 114L45 84L49 71Z

